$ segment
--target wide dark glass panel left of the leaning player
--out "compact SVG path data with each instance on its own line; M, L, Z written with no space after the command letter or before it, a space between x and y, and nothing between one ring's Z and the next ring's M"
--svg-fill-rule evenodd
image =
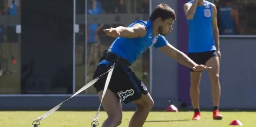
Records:
M73 1L21 5L21 94L72 94Z

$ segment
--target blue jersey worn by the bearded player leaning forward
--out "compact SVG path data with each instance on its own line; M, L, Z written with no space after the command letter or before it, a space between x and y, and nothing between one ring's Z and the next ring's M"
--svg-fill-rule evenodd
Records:
M159 48L167 45L167 40L164 36L154 35L152 31L151 21L142 21L138 20L135 23L132 23L128 27L132 27L135 24L141 24L146 27L147 34L141 38L125 38L118 37L109 47L108 52L113 52L116 55L128 60L131 64L134 63L146 49L154 46ZM103 60L100 64L109 64L109 62Z

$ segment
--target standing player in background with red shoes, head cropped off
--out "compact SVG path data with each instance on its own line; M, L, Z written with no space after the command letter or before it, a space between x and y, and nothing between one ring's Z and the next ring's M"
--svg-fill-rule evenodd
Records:
M221 120L220 103L220 46L217 27L217 9L206 0L193 0L184 5L189 25L188 56L197 64L212 67L207 70L210 76L213 97L213 119ZM193 120L200 120L199 84L201 71L190 69L190 98L194 107Z

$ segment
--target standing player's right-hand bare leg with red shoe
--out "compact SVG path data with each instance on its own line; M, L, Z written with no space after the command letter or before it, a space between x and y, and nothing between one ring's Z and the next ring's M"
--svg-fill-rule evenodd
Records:
M218 107L220 104L220 80L219 80L219 72L220 72L220 62L217 56L211 57L207 62L207 66L212 67L212 69L207 70L210 81L211 81L211 91L213 98L213 110L215 116L214 119L222 119L222 116L218 114ZM217 112L216 112L217 111Z

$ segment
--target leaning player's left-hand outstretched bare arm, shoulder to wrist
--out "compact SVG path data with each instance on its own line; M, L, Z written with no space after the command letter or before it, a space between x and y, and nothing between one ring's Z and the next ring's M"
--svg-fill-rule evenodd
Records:
M146 27L141 24L135 24L132 27L118 26L115 28L120 37L136 38L143 37L147 34Z

